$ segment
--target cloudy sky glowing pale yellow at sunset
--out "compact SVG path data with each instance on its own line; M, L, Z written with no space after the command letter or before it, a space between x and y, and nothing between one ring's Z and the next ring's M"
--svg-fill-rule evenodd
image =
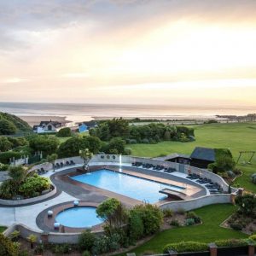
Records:
M0 102L256 106L255 0L0 0Z

